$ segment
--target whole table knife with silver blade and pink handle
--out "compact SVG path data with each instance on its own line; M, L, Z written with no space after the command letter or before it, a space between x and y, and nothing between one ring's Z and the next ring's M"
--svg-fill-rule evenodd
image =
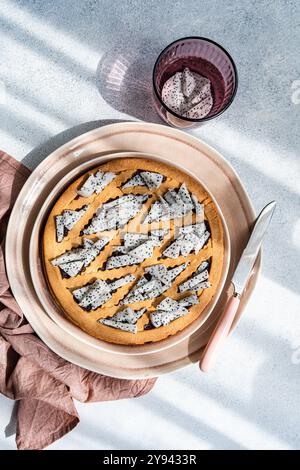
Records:
M256 219L246 248L242 253L231 280L234 287L234 294L227 302L224 312L222 313L200 359L200 369L203 372L208 372L208 370L211 369L219 348L228 336L239 307L240 297L247 285L253 265L259 253L263 237L270 224L275 206L275 201L267 204Z

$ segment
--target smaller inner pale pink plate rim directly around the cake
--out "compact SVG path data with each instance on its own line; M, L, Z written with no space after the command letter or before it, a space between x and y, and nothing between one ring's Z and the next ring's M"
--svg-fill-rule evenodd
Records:
M40 240L43 236L43 230L45 226L45 221L48 215L49 210L52 208L54 202L57 200L59 195L66 189L71 181L77 179L81 174L86 171L95 168L108 160L120 159L120 158L147 158L150 160L156 160L168 165L172 165L170 161L167 161L164 158L161 158L157 155L151 155L148 153L141 152L121 152L114 153L110 155L101 155L91 158L83 163L78 164L76 168L68 172L52 189L48 197L46 198L44 204L42 205L36 220L32 228L32 234L30 239L30 249L29 249L29 267L30 274L32 277L33 285L35 292L38 295L38 298L43 305L45 311L49 316L65 331L72 334L75 338L79 339L81 342L89 344L95 348L102 349L104 351L109 351L114 354L130 354L130 355L143 355L143 354L152 354L154 352L162 351L175 346L175 344L180 343L188 336L191 336L198 328L203 325L205 320L209 317L214 306L217 303L217 300L223 290L225 280L227 277L229 261L230 261L230 239L228 234L228 229L224 220L224 217L221 213L221 210L218 206L218 201L216 201L212 194L210 194L209 188L203 181L200 181L199 178L192 175L190 172L187 172L182 166L176 165L181 171L188 173L192 178L199 180L199 183L204 187L204 189L210 194L210 197L214 201L219 216L223 224L223 233L224 233L224 261L221 279L217 288L217 291L208 304L208 306L203 310L199 318L195 320L191 325L185 328L183 331L177 333L174 336L169 336L163 341L158 341L156 343L147 343L139 346L125 346L120 344L108 343L106 341L101 341L100 339L93 338L89 334L82 331L79 327L66 318L60 306L55 302L52 297L49 288L47 286L46 279L44 277L42 265L43 261L41 259L41 250L40 250ZM174 165L173 165L174 166Z

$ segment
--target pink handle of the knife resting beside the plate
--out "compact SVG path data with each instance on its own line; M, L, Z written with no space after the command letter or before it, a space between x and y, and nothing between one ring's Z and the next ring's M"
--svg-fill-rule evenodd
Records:
M231 297L227 302L225 310L222 313L201 357L200 369L203 372L208 372L209 369L211 369L217 352L230 331L235 314L239 308L239 304L240 299L238 296Z

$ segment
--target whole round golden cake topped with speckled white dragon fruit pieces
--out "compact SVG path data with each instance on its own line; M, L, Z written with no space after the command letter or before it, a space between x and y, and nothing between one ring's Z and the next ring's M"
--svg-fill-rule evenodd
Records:
M48 285L90 335L137 345L196 320L215 295L222 221L198 181L143 158L111 160L70 184L43 236Z

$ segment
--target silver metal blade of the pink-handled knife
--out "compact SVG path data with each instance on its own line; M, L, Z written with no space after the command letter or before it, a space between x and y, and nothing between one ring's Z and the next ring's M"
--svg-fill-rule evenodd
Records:
M253 265L260 250L263 237L271 222L275 206L276 201L272 201L267 204L256 219L251 236L248 240L246 248L242 253L231 280L236 295L241 295L246 287Z

